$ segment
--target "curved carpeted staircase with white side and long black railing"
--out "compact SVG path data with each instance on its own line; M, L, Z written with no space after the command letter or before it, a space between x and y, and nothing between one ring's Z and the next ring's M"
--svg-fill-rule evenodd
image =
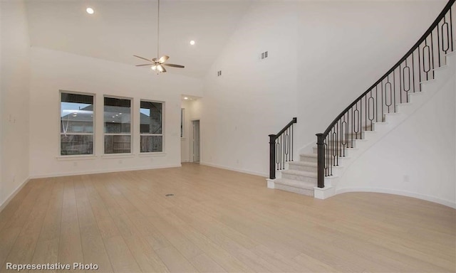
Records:
M308 147L309 154L300 154L299 161L288 161L279 168L278 178L268 179L268 188L321 199L335 195L338 178L353 161L430 100L445 79L456 77L454 3L450 0L413 48L339 114L325 133L317 134L318 145ZM393 95L393 88L400 90L398 95Z

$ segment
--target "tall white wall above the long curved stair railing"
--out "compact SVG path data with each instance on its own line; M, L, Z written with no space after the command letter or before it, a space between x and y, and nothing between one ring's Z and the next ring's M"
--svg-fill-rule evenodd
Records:
M299 5L296 146L336 116L425 33L447 1L307 1ZM318 117L318 118L315 118Z

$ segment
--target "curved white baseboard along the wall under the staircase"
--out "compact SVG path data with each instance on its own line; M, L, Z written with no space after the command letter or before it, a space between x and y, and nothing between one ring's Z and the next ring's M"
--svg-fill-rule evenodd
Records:
M366 187L355 187L355 188L340 188L336 190L336 194L341 193L351 193L351 192L366 192L366 193L388 193L395 194L397 196L408 196L413 198L418 198L422 200L427 200L433 203L438 203L440 205L446 205L450 208L456 208L456 203L451 202L450 200L435 198L434 196L426 196L420 193L412 193L409 191L399 191L390 188L366 188Z

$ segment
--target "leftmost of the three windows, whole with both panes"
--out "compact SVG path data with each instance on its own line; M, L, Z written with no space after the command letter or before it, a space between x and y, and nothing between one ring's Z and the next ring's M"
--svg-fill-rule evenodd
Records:
M93 95L61 92L61 156L93 154Z

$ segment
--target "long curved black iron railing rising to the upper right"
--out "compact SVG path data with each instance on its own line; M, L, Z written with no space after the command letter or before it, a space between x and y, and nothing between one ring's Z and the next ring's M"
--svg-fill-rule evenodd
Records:
M408 102L408 94L421 92L420 82L434 78L434 68L445 65L445 54L453 50L452 12L455 0L445 8L413 47L393 68L331 122L323 134L316 134L318 147L318 188L324 177L333 175L333 166L361 139L363 130L372 130L374 122L383 122L385 114L396 112L396 104ZM453 11L452 11L453 10Z

